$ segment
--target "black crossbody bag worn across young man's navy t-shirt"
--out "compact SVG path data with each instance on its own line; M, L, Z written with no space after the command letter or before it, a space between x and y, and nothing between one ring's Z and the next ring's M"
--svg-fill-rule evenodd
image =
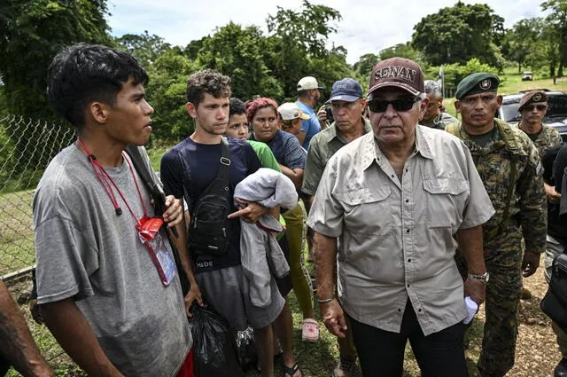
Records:
M183 159L182 162L185 165ZM230 241L228 216L232 200L229 191L229 166L229 142L226 137L222 137L217 176L201 193L190 213L188 240L191 253L208 256L227 255ZM189 171L188 167L185 171Z

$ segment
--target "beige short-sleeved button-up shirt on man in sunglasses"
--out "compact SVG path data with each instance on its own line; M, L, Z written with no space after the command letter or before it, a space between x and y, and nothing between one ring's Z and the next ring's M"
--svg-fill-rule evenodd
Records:
M338 238L338 295L351 317L399 333L409 298L428 335L465 318L454 234L493 213L467 147L417 126L401 181L372 132L331 157L308 224Z

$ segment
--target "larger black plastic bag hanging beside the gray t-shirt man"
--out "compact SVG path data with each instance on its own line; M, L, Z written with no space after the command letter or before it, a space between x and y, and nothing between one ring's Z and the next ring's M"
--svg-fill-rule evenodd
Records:
M195 377L244 377L227 320L198 305L191 306L191 313Z

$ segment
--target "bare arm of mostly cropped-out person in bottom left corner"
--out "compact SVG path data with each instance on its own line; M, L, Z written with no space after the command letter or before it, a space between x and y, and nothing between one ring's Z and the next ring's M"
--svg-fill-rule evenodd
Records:
M37 350L26 320L4 282L0 280L0 355L26 376L54 376Z

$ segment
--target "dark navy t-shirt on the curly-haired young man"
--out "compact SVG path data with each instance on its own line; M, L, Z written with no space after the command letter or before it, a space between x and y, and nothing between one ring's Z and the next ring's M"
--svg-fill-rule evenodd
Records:
M248 143L229 138L230 198L235 186L261 168L258 156ZM183 159L183 161L182 161ZM175 198L185 198L189 212L201 193L214 180L221 160L221 144L195 143L190 137L175 145L161 159L161 182L164 191ZM231 212L237 208L232 204ZM211 257L198 255L193 261L197 271L212 271L240 264L240 220L231 220L231 240L228 255Z

